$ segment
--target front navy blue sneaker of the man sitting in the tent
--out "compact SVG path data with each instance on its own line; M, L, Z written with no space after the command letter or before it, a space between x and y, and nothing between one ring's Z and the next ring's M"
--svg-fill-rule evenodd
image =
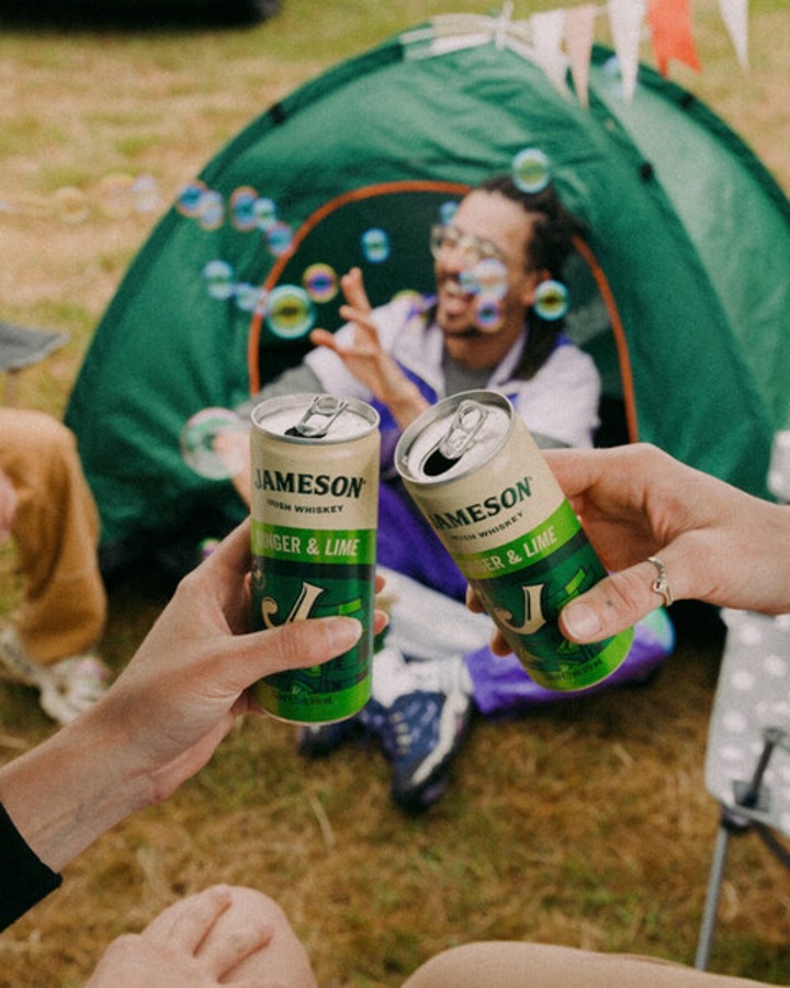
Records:
M358 717L392 760L395 802L413 815L427 810L447 788L450 764L470 726L469 694L417 689L388 707L371 699Z

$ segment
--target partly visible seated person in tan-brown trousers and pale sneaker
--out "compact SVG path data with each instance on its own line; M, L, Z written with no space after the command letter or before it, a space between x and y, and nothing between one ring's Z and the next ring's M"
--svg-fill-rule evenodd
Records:
M40 692L68 723L104 693L109 671L88 654L104 628L99 514L71 431L43 412L0 408L0 542L13 538L22 602L0 628L0 675Z

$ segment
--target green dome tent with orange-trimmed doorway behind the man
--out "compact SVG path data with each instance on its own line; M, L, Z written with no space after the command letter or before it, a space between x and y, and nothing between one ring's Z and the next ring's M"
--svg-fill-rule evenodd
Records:
M301 87L189 183L131 266L76 383L76 431L105 553L194 518L229 521L184 424L233 407L337 325L334 279L374 304L429 291L428 229L464 189L548 156L589 228L568 326L605 382L601 442L641 439L767 496L790 422L790 206L693 96L641 67L623 98L594 50L589 108L561 94L500 22L439 18Z

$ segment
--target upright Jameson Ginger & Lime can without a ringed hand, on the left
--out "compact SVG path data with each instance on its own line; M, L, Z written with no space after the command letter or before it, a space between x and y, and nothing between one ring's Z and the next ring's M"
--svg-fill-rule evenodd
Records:
M371 692L379 414L363 402L294 394L252 409L252 624L348 615L360 641L312 669L260 680L253 694L281 720L326 723Z

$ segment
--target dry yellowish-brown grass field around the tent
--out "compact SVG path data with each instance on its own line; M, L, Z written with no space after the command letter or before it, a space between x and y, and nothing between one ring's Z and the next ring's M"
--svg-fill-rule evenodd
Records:
M517 0L515 12L555 5ZM673 78L790 192L790 9L752 0L743 71L716 0L692 7L703 70L676 67ZM156 222L156 212L108 215L109 176L153 176L167 202L323 68L433 13L487 10L283 0L275 19L246 29L0 15L0 316L71 337L22 375L20 403L63 412L97 321ZM64 189L79 190L79 223L68 222ZM19 592L8 550L0 577L8 614ZM113 591L102 648L115 670L162 603L143 580ZM377 750L352 745L305 766L291 729L241 723L198 778L99 841L0 938L1 988L77 986L109 940L217 880L278 898L327 988L396 986L438 950L478 939L690 962L716 823L702 773L721 629L707 610L678 614L677 652L650 685L478 721L450 791L419 820L392 807ZM52 730L32 694L0 685L0 757ZM712 966L790 984L790 886L752 839L732 850Z

